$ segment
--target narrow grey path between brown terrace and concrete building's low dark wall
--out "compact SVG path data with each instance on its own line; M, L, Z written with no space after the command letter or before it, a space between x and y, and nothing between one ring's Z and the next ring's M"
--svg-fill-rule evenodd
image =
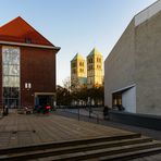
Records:
M161 140L161 131L154 131L154 129L149 129L149 128L144 128L144 127L138 127L138 126L133 126L133 125L126 125L117 122L111 122L109 120L103 120L103 112L102 109L94 109L92 110L95 114L91 114L91 117L89 117L89 111L86 109L81 109L79 110L79 120L86 121L86 122L92 122L92 123L98 123L97 120L97 114L99 115L99 124L109 126L109 127L114 127L114 128L120 128L124 131L129 131L134 133L140 133L145 136L152 137L153 139ZM60 115L64 115L67 117L73 117L78 120L78 110L77 109L58 109L57 113ZM97 113L97 114L96 114Z

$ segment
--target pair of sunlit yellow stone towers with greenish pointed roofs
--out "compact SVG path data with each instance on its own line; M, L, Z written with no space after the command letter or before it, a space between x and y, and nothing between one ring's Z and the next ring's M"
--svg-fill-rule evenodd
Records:
M96 48L87 55L87 61L81 53L71 61L71 85L78 87L87 85L88 88L101 86L103 83L103 57Z

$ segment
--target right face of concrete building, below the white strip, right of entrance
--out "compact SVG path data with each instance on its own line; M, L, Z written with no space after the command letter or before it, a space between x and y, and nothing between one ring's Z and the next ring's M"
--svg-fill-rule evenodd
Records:
M161 114L161 12L136 27L137 112Z

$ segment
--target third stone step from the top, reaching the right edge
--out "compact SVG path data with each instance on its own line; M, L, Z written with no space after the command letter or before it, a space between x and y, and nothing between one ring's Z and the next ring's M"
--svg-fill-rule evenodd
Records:
M46 158L46 161L79 161L79 160L110 160L111 161L122 161L120 157L126 153L129 153L129 156L126 156L125 160L131 159L131 154L133 153L133 158L139 158L141 157L141 151L145 152L143 157L156 154L161 152L161 143L160 141L152 141L152 143L146 143L146 144L137 144L137 145L129 145L129 146L121 146L121 147L114 147L114 148L106 148L106 149L98 149L98 150L89 150L89 151L79 151L79 152L73 152L67 154L60 154L54 157ZM146 153L146 151L148 151ZM140 153L139 153L140 152ZM135 154L136 153L136 154ZM137 156L137 154L140 156ZM116 158L116 156L119 158ZM106 157L106 158L102 158ZM42 159L44 160L44 159Z

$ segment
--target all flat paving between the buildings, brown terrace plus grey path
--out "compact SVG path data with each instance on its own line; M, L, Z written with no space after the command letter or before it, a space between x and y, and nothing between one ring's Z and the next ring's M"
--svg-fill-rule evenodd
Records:
M141 133L154 139L161 139L160 131L152 131L129 125L104 121L100 110L99 124L95 115L89 117L88 111L81 110L78 121L77 110L57 110L50 114L17 114L10 111L8 116L0 119L0 149L23 147L95 137L128 135ZM84 114L84 115L83 115ZM40 159L41 160L41 159ZM44 160L44 159L42 159ZM144 157L131 161L160 161L161 154Z

